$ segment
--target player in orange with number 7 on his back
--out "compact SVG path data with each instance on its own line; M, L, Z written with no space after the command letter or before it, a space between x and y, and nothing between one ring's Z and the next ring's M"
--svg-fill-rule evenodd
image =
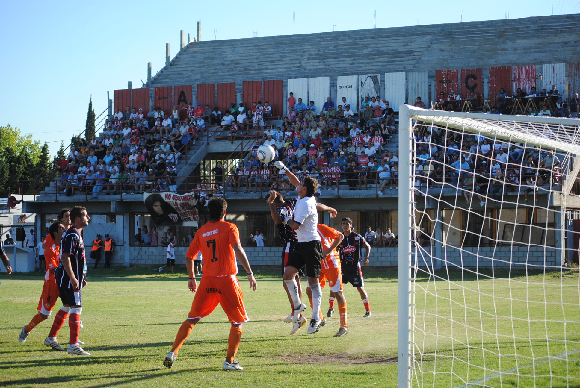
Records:
M236 258L248 273L248 281L253 291L256 291L256 280L253 277L244 248L240 244L238 227L223 220L226 216L226 210L227 202L222 197L213 197L209 201L209 222L195 233L195 237L187 250L185 262L189 274L188 287L191 292L197 291L197 293L193 298L193 303L191 303L189 316L177 331L173 347L163 361L163 365L168 368L172 367L173 361L177 358L177 352L181 349L195 324L201 318L211 314L219 303L231 322L223 369L224 371L244 369L238 361L234 360L235 353L240 346L242 323L249 321L244 307L244 295L240 283L235 277L238 273ZM197 259L197 253L200 251L206 262L204 276L201 278L198 289L193 271L193 260Z

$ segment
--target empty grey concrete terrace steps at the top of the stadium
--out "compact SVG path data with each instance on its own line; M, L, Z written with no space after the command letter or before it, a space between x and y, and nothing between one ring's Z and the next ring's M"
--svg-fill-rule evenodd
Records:
M570 62L578 26L570 14L190 42L149 86Z

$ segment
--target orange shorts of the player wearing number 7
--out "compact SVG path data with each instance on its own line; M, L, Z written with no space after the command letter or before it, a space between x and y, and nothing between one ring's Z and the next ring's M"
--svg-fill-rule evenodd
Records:
M206 317L215 310L218 303L222 305L230 322L241 324L249 321L244 307L244 294L235 275L202 277L191 303L188 318Z

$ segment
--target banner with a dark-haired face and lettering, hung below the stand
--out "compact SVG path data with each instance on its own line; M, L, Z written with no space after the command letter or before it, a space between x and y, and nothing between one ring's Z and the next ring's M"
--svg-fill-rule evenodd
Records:
M143 201L156 226L195 226L200 221L196 194L146 193Z

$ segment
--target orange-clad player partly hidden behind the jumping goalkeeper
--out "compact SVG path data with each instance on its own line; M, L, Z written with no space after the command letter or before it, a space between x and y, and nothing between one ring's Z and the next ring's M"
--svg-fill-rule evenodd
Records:
M334 336L343 337L349 333L349 325L347 324L346 318L346 298L342 293L340 256L337 248L340 245L340 242L345 238L345 235L324 224L318 224L317 230L322 240L322 248L324 248L324 251L322 251L324 259L322 259L320 286L321 288L324 288L324 284L328 280L330 291L338 300L340 327ZM308 292L308 289L306 292ZM322 316L320 311L319 314Z

